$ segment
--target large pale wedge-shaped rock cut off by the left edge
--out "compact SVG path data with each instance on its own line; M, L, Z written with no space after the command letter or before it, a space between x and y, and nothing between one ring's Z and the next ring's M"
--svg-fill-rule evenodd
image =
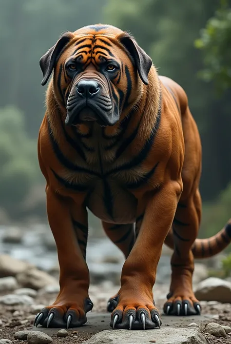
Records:
M29 263L19 261L7 254L0 255L0 277L16 276L31 266Z

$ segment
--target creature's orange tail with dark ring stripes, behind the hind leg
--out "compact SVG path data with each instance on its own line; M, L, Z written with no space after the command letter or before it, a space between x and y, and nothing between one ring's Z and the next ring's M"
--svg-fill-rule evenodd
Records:
M164 242L168 247L174 248L173 230L171 229ZM195 258L209 258L223 251L231 243L231 219L226 226L208 239L196 239L192 246Z

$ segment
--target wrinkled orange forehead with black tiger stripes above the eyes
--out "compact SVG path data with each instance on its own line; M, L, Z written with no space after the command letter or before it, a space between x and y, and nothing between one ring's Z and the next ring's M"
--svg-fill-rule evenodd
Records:
M76 61L120 60L126 56L118 35L123 31L112 26L87 26L74 32L75 37L63 52L63 58Z

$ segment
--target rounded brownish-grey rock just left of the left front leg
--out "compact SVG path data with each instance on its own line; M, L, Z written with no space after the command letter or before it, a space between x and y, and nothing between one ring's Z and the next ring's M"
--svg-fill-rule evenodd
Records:
M45 271L37 268L29 269L21 272L16 276L17 281L26 288L39 290L49 284L57 284L57 280L48 275Z

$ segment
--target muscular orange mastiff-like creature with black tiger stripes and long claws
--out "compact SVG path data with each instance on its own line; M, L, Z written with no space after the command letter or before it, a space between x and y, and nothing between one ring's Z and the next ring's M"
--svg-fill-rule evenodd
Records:
M125 263L109 301L113 328L160 326L153 286L163 243L173 247L164 312L201 311L192 290L193 255L208 257L231 241L231 224L196 240L201 143L184 90L159 77L129 34L110 25L65 33L40 59L46 113L39 164L60 265L57 300L35 324L80 326L92 309L85 262L87 208L102 220Z

